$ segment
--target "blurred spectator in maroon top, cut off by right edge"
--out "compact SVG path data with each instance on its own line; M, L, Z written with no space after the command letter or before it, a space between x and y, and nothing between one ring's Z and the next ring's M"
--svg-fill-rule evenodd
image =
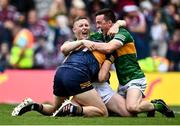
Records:
M167 58L170 61L169 71L180 71L180 29L176 29L169 41Z

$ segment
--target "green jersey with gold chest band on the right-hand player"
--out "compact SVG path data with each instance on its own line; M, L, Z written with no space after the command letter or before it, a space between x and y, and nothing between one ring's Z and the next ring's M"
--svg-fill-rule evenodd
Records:
M104 42L116 39L122 44L122 46L113 53L115 56L114 64L116 73L121 85L145 76L137 62L134 39L126 29L120 28L114 38L105 37L106 40L103 40L103 37L101 38Z

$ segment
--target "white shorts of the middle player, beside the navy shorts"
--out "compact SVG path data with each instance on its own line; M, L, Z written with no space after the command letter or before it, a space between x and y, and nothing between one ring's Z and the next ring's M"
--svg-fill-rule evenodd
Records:
M102 98L105 104L109 102L109 100L112 98L112 96L115 93L107 82L93 83L92 85L95 88L95 90L98 92L98 94L100 95L100 97Z

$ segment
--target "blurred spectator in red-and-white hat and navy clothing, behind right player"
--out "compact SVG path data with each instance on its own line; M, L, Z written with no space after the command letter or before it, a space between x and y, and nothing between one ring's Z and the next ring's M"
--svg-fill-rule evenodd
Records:
M137 58L143 59L150 55L149 42L146 36L146 20L136 5L126 5L123 8L127 28L135 40Z

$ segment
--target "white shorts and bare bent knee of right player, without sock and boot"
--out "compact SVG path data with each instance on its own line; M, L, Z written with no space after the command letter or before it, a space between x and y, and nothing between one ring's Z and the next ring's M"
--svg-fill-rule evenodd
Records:
M154 109L152 103L143 101L143 92L146 88L146 78L134 79L119 87L118 93L126 97L126 107L131 113L139 113Z

